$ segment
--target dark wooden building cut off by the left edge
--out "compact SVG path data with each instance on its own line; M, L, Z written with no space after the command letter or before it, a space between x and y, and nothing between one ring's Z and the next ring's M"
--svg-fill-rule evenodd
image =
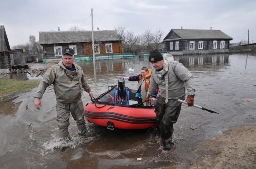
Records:
M9 73L11 68L11 48L4 25L0 25L0 69L3 69L0 74Z

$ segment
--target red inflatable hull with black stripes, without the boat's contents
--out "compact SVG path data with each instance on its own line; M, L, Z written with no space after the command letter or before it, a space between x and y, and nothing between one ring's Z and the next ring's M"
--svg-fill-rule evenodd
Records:
M97 108L102 107L102 108ZM134 108L118 105L104 105L94 102L84 108L85 118L108 129L148 129L156 127L154 108Z

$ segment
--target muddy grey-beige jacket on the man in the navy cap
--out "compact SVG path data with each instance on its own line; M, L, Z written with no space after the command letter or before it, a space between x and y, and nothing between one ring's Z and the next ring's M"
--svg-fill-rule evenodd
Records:
M83 88L89 93L91 88L84 78L83 69L77 64L73 64L76 68L75 71L69 71L63 65L62 60L57 65L50 67L44 74L35 97L41 99L44 91L51 84L53 84L56 100L63 103L72 103L80 100Z

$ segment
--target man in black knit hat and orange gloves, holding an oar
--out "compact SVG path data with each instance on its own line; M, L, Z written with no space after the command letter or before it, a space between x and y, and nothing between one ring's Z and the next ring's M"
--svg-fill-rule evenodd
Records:
M166 54L165 54L166 55ZM168 57L169 56L169 57ZM164 150L172 148L173 124L176 123L181 109L181 103L170 100L177 97L184 100L187 89L188 106L194 105L195 89L193 75L181 63L174 61L172 55L167 54L164 58L158 50L149 53L149 62L152 63L152 75L146 101L159 88L159 97L156 101L156 124L163 139Z

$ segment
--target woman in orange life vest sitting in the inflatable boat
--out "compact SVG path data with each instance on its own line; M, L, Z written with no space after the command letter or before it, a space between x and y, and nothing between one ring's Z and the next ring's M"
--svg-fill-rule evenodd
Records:
M129 81L138 81L138 90L136 92L136 98L138 99L138 103L142 103L146 105L145 99L147 97L148 88L150 85L150 76L151 76L151 69L147 67L142 67L140 69L140 74L130 77L124 77ZM155 95L152 96L151 100L156 100L156 95L158 93L158 88L156 89Z

